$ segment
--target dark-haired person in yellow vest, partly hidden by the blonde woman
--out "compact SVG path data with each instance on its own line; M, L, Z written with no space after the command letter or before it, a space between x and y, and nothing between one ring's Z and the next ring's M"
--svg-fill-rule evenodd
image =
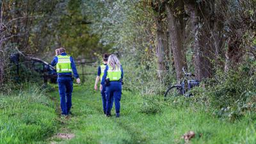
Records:
M98 82L99 80L101 81L102 77L103 77L103 74L104 74L104 70L106 68L106 65L108 63L108 54L103 54L103 65L100 65L99 68L98 68L98 74L97 74L97 77L96 77L96 80L95 80L95 84L94 84L94 89L97 90L98 89ZM104 84L104 86L102 86L102 90L100 90L100 93L101 93L101 97L102 97L102 107L103 107L103 111L104 111L104 114L106 115L106 86ZM112 105L111 105L111 108L113 106L113 99L112 100Z

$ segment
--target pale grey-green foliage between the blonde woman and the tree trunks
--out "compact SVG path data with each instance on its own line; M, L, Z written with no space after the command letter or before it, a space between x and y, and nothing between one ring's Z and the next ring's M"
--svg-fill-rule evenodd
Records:
M144 94L163 93L158 77L154 12L140 1L83 1L84 15L91 15L93 33L111 44L124 67L124 88ZM172 71L164 81L173 79Z

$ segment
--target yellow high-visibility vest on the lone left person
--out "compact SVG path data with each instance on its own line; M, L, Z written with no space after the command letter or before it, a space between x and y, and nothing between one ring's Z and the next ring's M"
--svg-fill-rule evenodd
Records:
M58 63L56 65L57 72L58 73L72 72L70 56L59 55L57 57L58 57Z

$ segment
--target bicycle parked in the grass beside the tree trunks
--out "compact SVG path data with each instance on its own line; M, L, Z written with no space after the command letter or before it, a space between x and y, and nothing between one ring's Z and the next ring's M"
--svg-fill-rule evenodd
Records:
M195 86L199 86L200 82L197 81L196 79L188 79L187 77L195 76L191 74L190 72L187 73L185 72L184 68L182 68L182 71L185 74L184 79L180 84L175 84L172 86L168 87L166 92L164 93L164 100L166 100L166 97L177 97L179 95L184 95L185 97L190 97L192 94L191 93L186 93L187 91L191 90ZM186 81L188 81L188 90L186 90Z

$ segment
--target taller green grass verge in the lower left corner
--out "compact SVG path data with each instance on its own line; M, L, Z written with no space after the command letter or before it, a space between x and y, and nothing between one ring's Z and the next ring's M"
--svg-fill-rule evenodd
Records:
M0 113L0 143L44 143L57 129L54 104L36 86L0 94Z

